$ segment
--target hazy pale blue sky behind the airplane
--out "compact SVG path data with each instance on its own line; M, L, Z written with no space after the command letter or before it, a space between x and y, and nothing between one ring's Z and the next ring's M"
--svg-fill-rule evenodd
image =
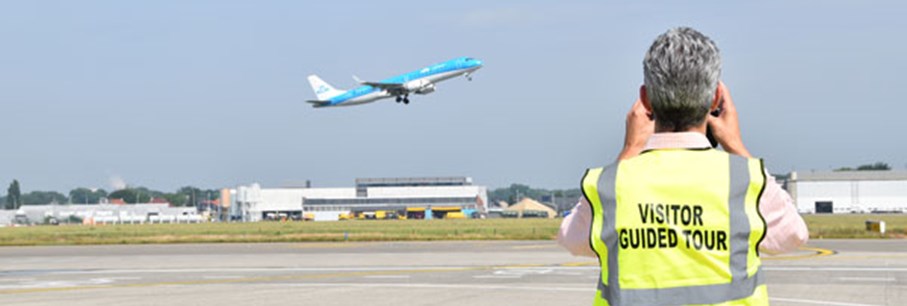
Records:
M772 172L907 167L905 4L726 2L2 2L0 184L573 188L616 157L643 54L682 25L717 42ZM304 102L311 73L348 88L458 56L486 66L408 106Z

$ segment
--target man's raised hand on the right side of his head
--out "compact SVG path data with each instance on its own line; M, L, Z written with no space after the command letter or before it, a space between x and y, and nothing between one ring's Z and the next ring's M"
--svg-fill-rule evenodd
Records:
M722 107L721 113L716 117L707 115L706 120L712 128L712 134L721 144L725 151L744 157L752 157L743 145L743 138L740 136L740 121L737 118L737 107L734 106L734 100L731 99L731 92L728 91L724 82L718 82L719 104Z

